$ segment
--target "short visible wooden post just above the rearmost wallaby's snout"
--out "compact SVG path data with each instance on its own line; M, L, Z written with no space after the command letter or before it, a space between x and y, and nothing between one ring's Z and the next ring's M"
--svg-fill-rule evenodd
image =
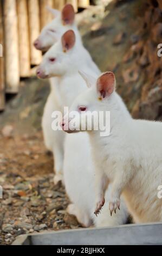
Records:
M46 9L47 6L53 8L53 0L40 0L41 29L53 20L53 15Z

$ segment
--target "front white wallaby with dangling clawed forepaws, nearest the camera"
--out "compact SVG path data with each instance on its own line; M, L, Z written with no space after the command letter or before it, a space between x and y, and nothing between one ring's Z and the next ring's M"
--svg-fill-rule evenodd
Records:
M162 221L162 200L158 198L162 180L162 123L130 117L115 93L112 72L102 74L97 82L88 75L82 75L92 87L74 101L70 112L79 114L74 119L66 115L63 129L66 127L68 132L82 130L81 121L84 122L86 116L90 117L88 112L111 112L109 136L101 137L100 130L92 126L90 131L88 122L85 124L95 162L95 214L98 215L105 204L105 191L111 184L111 215L122 209L120 197L123 194L135 222Z

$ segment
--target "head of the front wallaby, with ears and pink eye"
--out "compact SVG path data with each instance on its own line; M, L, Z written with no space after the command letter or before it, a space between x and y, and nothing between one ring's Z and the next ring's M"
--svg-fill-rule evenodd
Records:
M89 131L88 120L95 118L92 113L111 111L115 100L115 75L113 72L105 72L98 80L80 72L87 83L88 89L77 96L70 111L62 121L62 129L68 133ZM99 115L98 115L99 117ZM92 130L95 129L95 121L91 122Z

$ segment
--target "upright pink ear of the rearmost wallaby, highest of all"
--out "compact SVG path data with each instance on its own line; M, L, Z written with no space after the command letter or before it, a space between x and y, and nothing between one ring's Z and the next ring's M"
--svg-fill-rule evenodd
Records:
M72 25L75 19L75 11L72 4L66 4L62 9L63 25Z

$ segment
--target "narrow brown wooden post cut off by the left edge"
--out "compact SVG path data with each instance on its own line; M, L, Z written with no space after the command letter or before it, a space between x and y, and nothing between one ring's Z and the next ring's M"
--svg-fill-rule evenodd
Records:
M2 2L0 1L0 111L5 106Z

